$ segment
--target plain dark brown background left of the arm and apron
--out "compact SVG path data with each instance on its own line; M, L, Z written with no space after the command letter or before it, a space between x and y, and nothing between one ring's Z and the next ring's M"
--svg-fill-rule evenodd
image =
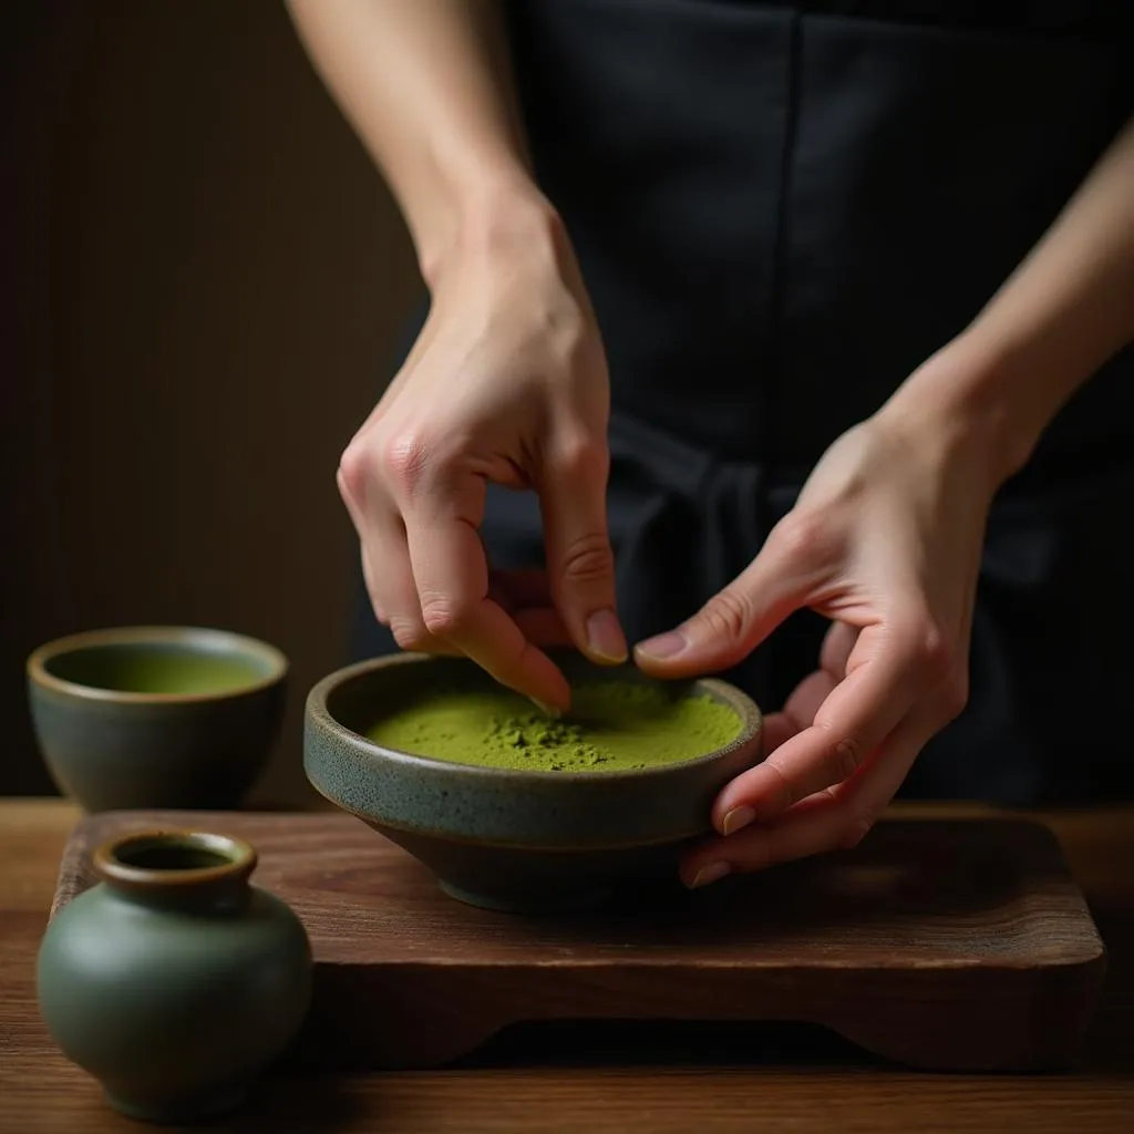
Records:
M125 623L345 657L342 446L417 294L389 195L279 0L18 0L0 34L0 794L46 792L23 665Z

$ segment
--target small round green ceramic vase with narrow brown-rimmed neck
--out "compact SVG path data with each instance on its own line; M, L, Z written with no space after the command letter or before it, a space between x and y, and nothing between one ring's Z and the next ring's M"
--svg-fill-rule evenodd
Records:
M288 1047L311 997L298 917L249 885L256 853L153 831L94 854L101 881L52 919L40 1010L71 1061L134 1118L192 1122L238 1105Z

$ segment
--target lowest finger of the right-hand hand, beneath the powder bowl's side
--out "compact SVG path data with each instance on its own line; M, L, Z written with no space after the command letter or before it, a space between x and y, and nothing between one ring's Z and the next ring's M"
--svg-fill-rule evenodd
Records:
M933 714L907 717L853 779L802 801L771 824L702 844L683 860L682 880L697 887L726 874L855 846L894 798L936 730Z

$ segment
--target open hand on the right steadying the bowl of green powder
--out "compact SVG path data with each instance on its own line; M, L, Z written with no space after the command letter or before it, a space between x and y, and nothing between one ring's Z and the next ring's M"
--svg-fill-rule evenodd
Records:
M793 611L831 619L819 668L765 720L767 759L728 784L687 886L854 846L967 700L990 460L883 408L815 466L752 564L635 658L661 678L736 665Z

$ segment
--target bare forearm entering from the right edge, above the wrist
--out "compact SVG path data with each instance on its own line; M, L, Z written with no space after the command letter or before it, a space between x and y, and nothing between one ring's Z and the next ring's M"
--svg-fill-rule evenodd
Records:
M1004 480L1075 390L1134 340L1134 119L972 325L888 408L975 435Z

